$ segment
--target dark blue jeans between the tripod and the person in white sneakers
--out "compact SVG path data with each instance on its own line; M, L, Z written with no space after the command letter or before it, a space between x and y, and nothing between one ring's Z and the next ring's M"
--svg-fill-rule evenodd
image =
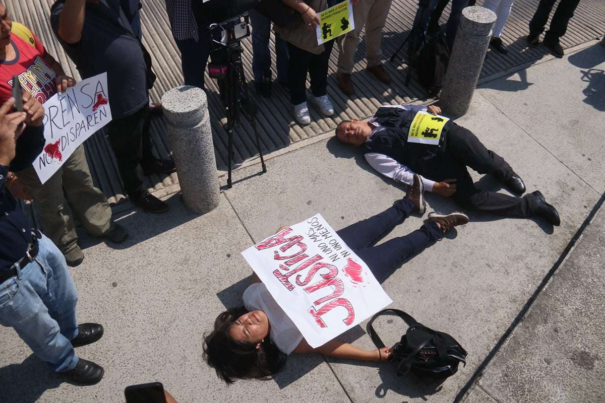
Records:
M248 11L252 24L252 73L254 80L261 83L263 77L271 77L271 53L269 51L269 34L271 21L257 10ZM288 46L286 41L275 34L275 54L277 79L280 82L288 80Z

